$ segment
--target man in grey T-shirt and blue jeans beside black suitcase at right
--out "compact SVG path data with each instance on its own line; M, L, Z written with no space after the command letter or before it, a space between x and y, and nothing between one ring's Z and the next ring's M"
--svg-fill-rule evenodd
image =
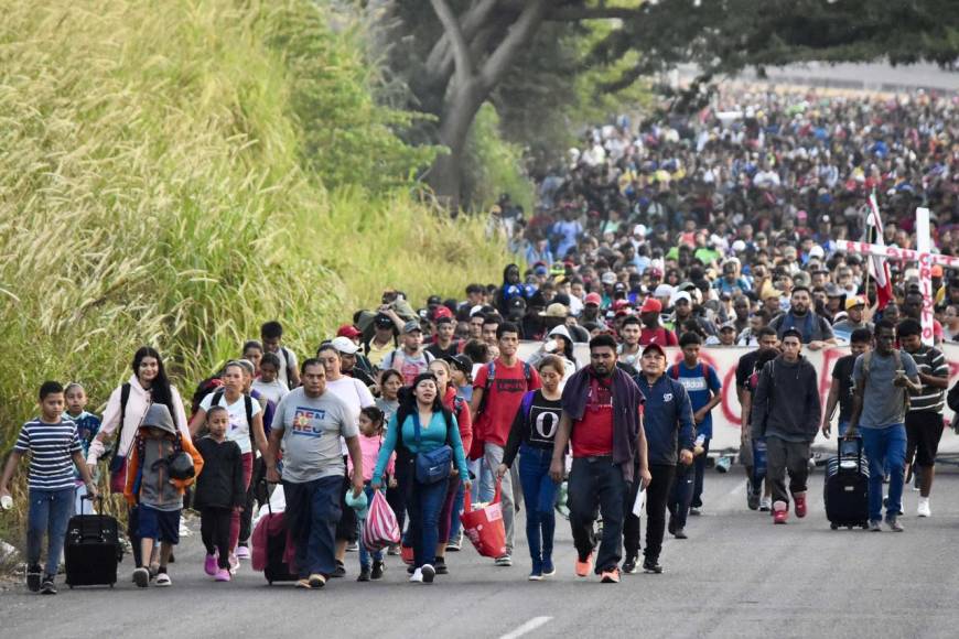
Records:
M845 436L852 438L862 431L862 445L869 458L869 529L882 528L883 476L890 475L886 526L902 532L898 522L903 506L903 472L906 461L906 410L908 393L918 393L919 370L908 353L893 348L896 327L880 320L873 333L875 350L855 360L852 379L852 416Z

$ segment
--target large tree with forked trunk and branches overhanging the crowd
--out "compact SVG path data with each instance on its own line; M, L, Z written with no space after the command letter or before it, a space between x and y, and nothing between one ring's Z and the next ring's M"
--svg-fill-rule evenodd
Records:
M380 3L390 23L390 67L413 107L435 117L423 141L449 149L425 174L435 193L460 206L470 126L497 87L521 69L549 64L563 35L590 21L611 29L580 58L573 75L634 61L597 87L615 93L649 74L694 63L703 78L745 66L798 61L894 64L959 57L959 12L952 0L394 0ZM381 8L381 7L380 7ZM543 33L549 39L541 37ZM515 78L515 76L514 76ZM513 96L521 99L521 96ZM500 99L509 97L500 96Z

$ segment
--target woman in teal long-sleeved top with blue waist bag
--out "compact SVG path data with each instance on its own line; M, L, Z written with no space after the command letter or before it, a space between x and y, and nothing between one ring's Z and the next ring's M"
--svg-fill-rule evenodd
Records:
M440 511L452 464L464 478L466 489L471 488L456 418L443 405L437 376L432 372L417 376L411 396L405 398L390 420L370 480L374 490L382 485L384 470L394 451L397 480L407 491L410 516L407 530L407 539L413 546L410 582L429 584L437 574L433 562L440 537Z

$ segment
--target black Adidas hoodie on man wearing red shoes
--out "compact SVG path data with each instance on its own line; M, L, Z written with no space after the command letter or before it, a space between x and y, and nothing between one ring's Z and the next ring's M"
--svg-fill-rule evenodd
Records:
M819 379L809 360L779 356L766 362L753 397L754 437L811 442L822 420Z

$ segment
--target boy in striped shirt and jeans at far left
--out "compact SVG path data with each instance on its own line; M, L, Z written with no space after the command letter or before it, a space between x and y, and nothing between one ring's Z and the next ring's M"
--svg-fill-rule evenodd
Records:
M97 495L97 487L84 462L76 424L63 418L64 405L63 387L55 381L43 382L40 387L40 418L20 429L13 452L0 477L0 498L9 502L10 478L20 458L30 453L26 585L32 592L40 591L44 595L56 594L54 577L63 553L67 523L74 512L74 466L87 487L87 494L91 497ZM44 533L47 535L46 571L41 583L40 550Z

